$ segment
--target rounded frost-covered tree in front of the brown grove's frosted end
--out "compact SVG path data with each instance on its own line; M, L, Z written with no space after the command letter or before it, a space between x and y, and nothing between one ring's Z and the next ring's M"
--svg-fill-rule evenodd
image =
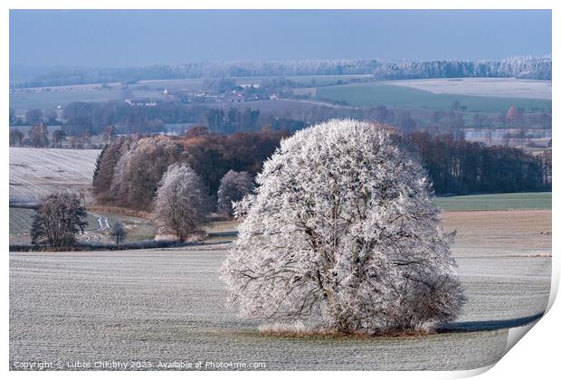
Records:
M162 232L175 233L180 242L204 223L208 196L201 178L187 165L169 166L156 194L155 217Z

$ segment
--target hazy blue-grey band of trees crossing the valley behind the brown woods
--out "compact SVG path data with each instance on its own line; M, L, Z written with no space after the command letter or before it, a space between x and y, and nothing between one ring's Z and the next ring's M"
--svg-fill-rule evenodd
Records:
M302 102L276 103L273 109L231 107L208 108L200 105L158 103L154 107L132 107L124 102L73 102L63 110L62 129L68 137L88 139L105 133L108 126L118 126L114 133L157 134L166 131L166 124L202 124L214 133L233 134L262 128L289 131L305 128L328 119L376 120L397 126L404 132L430 130L435 134L461 136L466 124L474 127L503 126L509 128L551 128L551 113L543 109L511 107L496 115L476 114L469 123L464 120L465 107L452 103L449 110L388 109L328 107ZM33 119L32 125L51 125L44 119ZM43 120L43 121L42 121ZM85 144L85 142L83 143Z

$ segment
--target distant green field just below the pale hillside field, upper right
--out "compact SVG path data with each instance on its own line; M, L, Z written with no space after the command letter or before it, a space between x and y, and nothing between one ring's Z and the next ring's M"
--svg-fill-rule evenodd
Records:
M386 106L399 109L449 110L452 102L460 101L467 112L506 112L510 106L523 109L551 109L551 100L482 97L456 94L435 94L385 82L357 83L319 87L317 98L346 101L356 107Z

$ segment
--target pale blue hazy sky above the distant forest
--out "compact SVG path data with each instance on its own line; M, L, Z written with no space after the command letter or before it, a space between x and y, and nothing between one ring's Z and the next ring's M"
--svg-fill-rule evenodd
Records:
M551 52L550 11L10 11L10 64L500 59Z

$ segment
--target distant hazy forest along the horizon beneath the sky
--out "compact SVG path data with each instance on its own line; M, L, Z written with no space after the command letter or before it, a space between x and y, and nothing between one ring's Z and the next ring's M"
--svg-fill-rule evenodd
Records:
M21 72L18 72L21 71ZM180 80L297 75L371 75L374 80L496 77L551 80L551 56L511 57L500 61L382 61L307 60L271 62L196 62L139 68L44 69L43 74L27 76L24 68L10 68L10 87L27 88L85 83L143 80ZM14 78L19 78L15 81Z

